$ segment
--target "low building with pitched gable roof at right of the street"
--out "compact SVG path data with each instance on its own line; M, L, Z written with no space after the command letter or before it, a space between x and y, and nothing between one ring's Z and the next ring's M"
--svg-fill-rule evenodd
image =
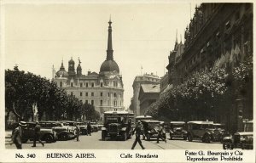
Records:
M145 110L159 100L160 84L142 84L138 99L140 101L140 115L144 115Z

